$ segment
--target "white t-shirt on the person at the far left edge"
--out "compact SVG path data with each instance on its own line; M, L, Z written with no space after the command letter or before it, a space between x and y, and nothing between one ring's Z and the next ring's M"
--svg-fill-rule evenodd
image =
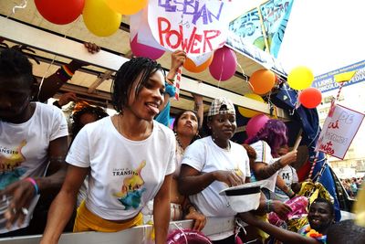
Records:
M49 142L68 136L62 111L53 105L36 102L32 117L23 123L0 121L0 189L26 177L43 176L48 165ZM38 197L28 208L21 228L29 224ZM17 225L11 229L18 229ZM0 233L8 232L0 219Z

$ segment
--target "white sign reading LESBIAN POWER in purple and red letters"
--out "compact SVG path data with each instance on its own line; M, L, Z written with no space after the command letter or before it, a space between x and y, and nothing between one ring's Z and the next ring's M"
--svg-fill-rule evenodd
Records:
M224 45L233 2L238 0L150 0L152 35L162 47L183 49L194 60Z

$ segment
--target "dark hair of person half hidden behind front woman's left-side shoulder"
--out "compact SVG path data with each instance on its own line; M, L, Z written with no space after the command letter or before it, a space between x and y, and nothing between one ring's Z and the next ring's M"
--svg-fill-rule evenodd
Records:
M80 124L81 116L84 114L92 114L95 116L95 121L109 116L109 114L100 107L86 106L79 111L72 114L72 138L75 138L78 132L82 129L85 124Z

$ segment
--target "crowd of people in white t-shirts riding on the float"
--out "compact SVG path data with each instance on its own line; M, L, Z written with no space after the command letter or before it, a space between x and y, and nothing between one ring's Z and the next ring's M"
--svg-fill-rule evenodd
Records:
M203 98L194 94L195 111L179 113L172 130L165 126L173 80L185 58L183 51L172 53L167 74L150 58L125 62L111 89L118 113L108 116L89 105L75 111L69 145L66 118L56 106L77 98L68 94L56 106L40 101L52 97L85 64L62 66L49 78L53 83L48 80L39 90L26 56L4 49L0 238L43 233L41 243L57 243L69 225L74 232L116 232L142 225L149 216L155 243L161 244L170 221L193 219L192 228L202 230L207 217L237 217L285 243L326 243L334 222L330 199L318 197L311 203L308 225L298 233L267 221L268 213L285 219L293 210L286 201L297 196L293 189L300 188L293 187L299 183L289 164L296 161L297 150L289 152L284 122L262 115L264 122L247 133L245 144L235 143L233 102L215 98L203 120ZM203 123L208 128L204 137ZM237 212L228 196L219 194L227 187L257 181L262 193L255 212ZM36 209L50 196L56 197L46 224L45 216L36 218ZM267 241L255 228L238 234L256 243ZM229 230L209 238L214 244L235 243L237 233Z

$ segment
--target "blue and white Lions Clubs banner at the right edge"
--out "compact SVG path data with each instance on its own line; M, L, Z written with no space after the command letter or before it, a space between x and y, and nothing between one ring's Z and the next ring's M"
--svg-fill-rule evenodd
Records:
M351 80L343 84L344 86L349 86L365 80L365 60L362 60L349 66L335 69L323 75L317 76L312 83L312 87L318 88L322 92L338 89L339 83L335 81L335 75L353 70L357 70L357 72Z

